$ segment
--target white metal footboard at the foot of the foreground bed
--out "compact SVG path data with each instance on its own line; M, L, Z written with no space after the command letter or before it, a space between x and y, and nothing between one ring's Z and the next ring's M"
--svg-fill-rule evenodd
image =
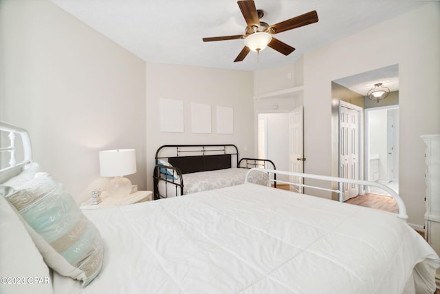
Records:
M339 194L339 199L342 200L342 188L344 183L347 184L355 184L355 185L362 185L362 186L370 186L370 187L377 187L380 188L386 192L388 192L391 196L393 196L394 200L397 202L397 206L399 207L399 213L397 216L401 218L402 220L408 219L408 215L406 214L406 207L404 204L404 201L401 200L400 196L390 187L387 187L386 185L382 185L379 182L369 182L366 180L351 180L347 178L337 178L337 177L331 177L331 176L319 176L314 174L300 174L300 173L294 173L291 171L279 171L275 169L261 169L261 168L253 168L248 171L246 174L245 182L248 182L248 176L252 171L263 171L267 174L280 174L280 175L287 175L287 176L295 176L298 177L298 182L286 182L283 180L274 180L271 178L270 182L268 183L268 186L270 186L271 182L278 182L278 184L288 184L288 185L294 185L298 187L299 193L303 193L303 188L311 188L311 189L318 189L322 191L331 191L336 192ZM311 178L316 180L326 180L329 182L338 182L338 189L327 189L322 187L316 187L316 186L309 186L304 184L305 178Z

